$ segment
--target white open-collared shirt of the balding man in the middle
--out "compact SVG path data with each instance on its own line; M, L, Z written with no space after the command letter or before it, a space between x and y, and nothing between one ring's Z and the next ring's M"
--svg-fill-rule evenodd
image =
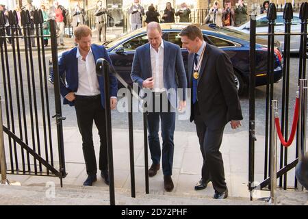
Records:
M152 77L154 78L153 92L165 91L164 86L164 41L158 47L158 52L150 44Z

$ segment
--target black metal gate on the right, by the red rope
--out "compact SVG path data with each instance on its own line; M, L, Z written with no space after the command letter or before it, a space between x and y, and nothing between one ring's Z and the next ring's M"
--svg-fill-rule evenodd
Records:
M251 191L251 200L253 200L253 190L265 190L270 188L270 166L271 166L271 158L269 156L269 151L272 149L272 145L270 143L270 139L272 138L272 127L274 124L272 123L272 100L281 99L281 131L283 133L284 138L288 138L290 134L290 119L294 114L290 112L289 105L293 107L291 101L296 99L296 94L289 94L290 92L290 42L291 38L294 36L300 36L300 48L299 48L299 69L298 69L298 85L300 79L306 79L306 58L307 58L307 19L308 19L308 3L302 3L300 6L300 20L301 20L301 31L300 33L292 33L291 25L293 18L293 8L291 3L286 3L283 12L283 19L285 20L285 34L275 34L274 25L277 19L277 8L274 3L270 3L270 8L267 14L268 18L268 34L256 34L256 20L255 16L251 16L251 51L250 51L250 65L251 65L251 74L250 74L250 88L249 88L249 173L248 173L248 187ZM255 136L255 62L256 62L256 37L257 36L267 36L268 38L268 70L267 70L267 85L266 85L266 118L264 120L265 127L261 127L265 130L265 142L264 142L264 170L263 170L263 179L261 183L255 183L256 180L256 171L255 169L258 166L261 166L261 162L256 158L255 155L255 141L257 140ZM282 80L282 93L274 96L274 59L276 58L276 54L274 52L274 38L275 36L283 36L284 44L283 44L283 80ZM302 114L306 109L305 106L300 110ZM292 110L293 111L293 110ZM301 116L301 115L300 115ZM290 155L290 149L283 147L281 144L279 150L279 168L277 168L277 179L279 178L279 187L287 190L287 188L297 188L298 183L296 178L294 177L292 181L292 186L288 186L287 177L296 164L298 163L298 148L303 149L304 140L303 138L299 138L300 136L305 136L304 133L306 131L305 121L298 124L299 129L297 129L296 136L296 153L295 155Z

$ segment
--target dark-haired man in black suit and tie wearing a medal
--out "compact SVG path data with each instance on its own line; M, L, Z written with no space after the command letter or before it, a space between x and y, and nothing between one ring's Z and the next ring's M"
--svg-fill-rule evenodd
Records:
M227 198L224 164L219 151L224 126L240 127L242 110L234 83L233 66L224 51L205 43L201 29L189 25L181 31L183 47L188 49L188 87L192 90L190 121L194 120L201 153L202 179L195 190L212 181L214 198Z

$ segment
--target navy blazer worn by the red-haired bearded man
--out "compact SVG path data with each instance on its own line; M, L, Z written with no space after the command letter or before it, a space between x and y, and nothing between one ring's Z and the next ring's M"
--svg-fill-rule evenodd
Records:
M97 44L91 45L92 53L94 55L95 63L99 58L104 58L112 64L110 57L103 46L99 46ZM66 84L63 80L60 80L60 92L61 95L64 97L63 104L68 104L70 106L74 105L74 101L68 101L65 96L69 92L77 92L78 90L78 59L76 57L77 54L77 47L71 49L70 51L66 51L62 54L62 57L59 60L59 75L63 77L64 73ZM105 95L104 95L104 78L97 77L99 79L99 89L101 90L101 103L105 108ZM117 96L118 92L118 81L112 73L110 73L110 96Z

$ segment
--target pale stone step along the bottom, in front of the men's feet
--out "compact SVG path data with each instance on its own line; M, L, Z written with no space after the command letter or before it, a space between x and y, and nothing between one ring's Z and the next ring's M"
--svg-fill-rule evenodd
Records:
M0 194L0 205L110 205L107 188L66 185L53 190L44 185L0 185ZM131 198L131 192L124 189L116 189L115 197L116 205L268 205L261 201L251 202L248 198L214 200L207 196L155 191L136 193L136 198Z

